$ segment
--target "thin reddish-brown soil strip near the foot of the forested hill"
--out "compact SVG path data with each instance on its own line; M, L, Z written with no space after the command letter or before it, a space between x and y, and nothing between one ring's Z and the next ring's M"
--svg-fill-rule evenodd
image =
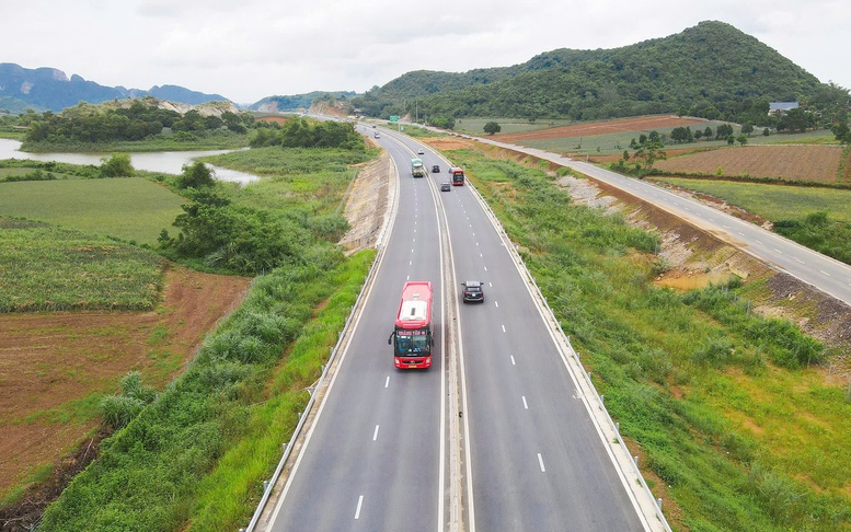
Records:
M619 132L652 130L667 127L693 126L705 124L702 118L682 118L674 115L639 116L618 120L589 122L571 126L537 129L516 134L494 135L501 142L522 143L529 140L563 139L571 137L590 137L594 135L611 135Z

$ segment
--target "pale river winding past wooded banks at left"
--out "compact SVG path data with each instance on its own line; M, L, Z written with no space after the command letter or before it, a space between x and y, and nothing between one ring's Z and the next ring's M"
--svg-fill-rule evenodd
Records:
M181 174L185 164L192 164L195 158L206 155L218 155L229 153L234 150L208 150L208 151L152 151L145 153L130 153L130 164L136 170L147 170L148 172L161 172L166 174ZM0 160L3 159L28 159L33 161L56 161L71 164L94 164L101 165L101 159L110 157L111 153L27 153L21 151L21 142L11 139L0 139ZM230 181L235 183L251 183L260 177L245 172L214 166L212 169L217 180Z

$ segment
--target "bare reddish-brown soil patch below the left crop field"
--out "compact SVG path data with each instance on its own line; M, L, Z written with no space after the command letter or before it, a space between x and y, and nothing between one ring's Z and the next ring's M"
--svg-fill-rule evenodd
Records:
M97 421L74 420L69 403L117 392L131 370L162 389L250 284L176 266L165 277L152 312L0 314L0 496L36 466L60 475L89 441Z

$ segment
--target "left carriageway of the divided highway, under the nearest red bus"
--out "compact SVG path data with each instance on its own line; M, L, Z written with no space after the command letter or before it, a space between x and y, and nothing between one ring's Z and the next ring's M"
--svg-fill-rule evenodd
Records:
M410 164L400 144L384 147ZM400 170L398 216L375 288L266 530L441 530L439 228L428 181L411 180L405 165ZM428 371L396 371L387 343L409 279L430 280L435 289L436 351Z

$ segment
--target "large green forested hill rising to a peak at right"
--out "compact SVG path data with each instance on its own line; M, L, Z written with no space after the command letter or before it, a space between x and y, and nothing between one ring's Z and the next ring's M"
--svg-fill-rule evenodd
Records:
M770 101L837 100L777 50L723 22L613 49L556 49L507 68L406 73L353 99L368 115L576 120L656 113L764 115ZM842 100L844 100L842 102ZM763 111L764 109L764 111ZM751 117L751 118L752 118Z

